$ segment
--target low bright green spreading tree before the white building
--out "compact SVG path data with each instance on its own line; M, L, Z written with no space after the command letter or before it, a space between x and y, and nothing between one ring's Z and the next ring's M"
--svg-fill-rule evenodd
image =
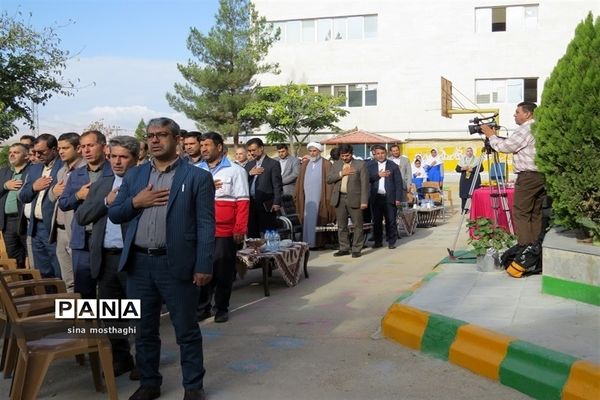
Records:
M257 101L248 104L240 117L253 126L269 125L267 142L290 143L297 154L300 145L315 132L323 128L339 131L335 124L348 114L339 107L342 103L343 97L323 95L307 85L290 83L259 88Z

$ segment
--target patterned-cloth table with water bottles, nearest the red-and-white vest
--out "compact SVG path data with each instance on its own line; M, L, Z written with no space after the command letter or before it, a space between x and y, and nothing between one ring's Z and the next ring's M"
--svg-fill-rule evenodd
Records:
M302 270L304 277L308 278L309 255L308 243L305 242L292 242L290 247L267 252L257 252L248 247L237 252L237 258L241 261L237 263L238 273L243 278L247 270L262 268L265 296L269 296L269 276L273 270L279 270L290 287L298 284Z

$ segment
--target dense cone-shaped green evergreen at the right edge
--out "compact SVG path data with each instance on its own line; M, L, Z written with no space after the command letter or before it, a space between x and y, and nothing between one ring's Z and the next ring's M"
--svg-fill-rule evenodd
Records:
M600 20L588 14L544 85L536 163L558 224L600 240Z

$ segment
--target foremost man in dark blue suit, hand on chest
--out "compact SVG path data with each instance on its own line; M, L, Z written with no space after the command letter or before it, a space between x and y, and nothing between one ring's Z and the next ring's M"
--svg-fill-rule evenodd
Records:
M108 210L113 223L129 222L119 270L127 271L127 296L142 304L135 341L141 386L130 400L160 396L163 299L181 351L184 399L205 398L196 307L199 287L212 278L215 186L209 172L177 156L179 135L179 125L169 118L148 123L152 161L127 173Z

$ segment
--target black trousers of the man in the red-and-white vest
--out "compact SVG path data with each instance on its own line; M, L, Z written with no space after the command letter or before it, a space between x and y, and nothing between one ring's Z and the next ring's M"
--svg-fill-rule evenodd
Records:
M229 299L235 276L235 253L236 244L233 237L215 238L213 277L208 285L200 288L198 311L211 310L213 295L217 313L229 311Z

